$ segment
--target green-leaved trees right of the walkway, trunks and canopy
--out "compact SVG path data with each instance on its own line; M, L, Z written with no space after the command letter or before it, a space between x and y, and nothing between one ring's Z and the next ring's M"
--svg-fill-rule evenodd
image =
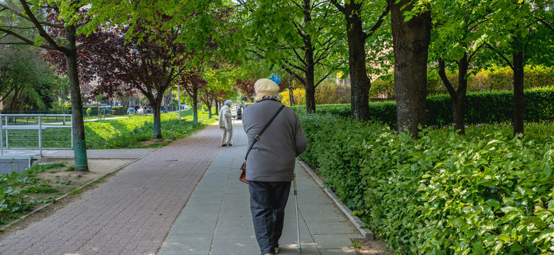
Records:
M511 67L515 135L523 133L523 65L553 64L554 4L548 0L239 2L246 38L253 38L246 40L250 48L299 74L308 112L315 111L310 94L319 84L313 74L325 77L344 68L340 57L347 56L352 117L369 118L369 77L393 67L398 128L413 137L426 122L428 68L439 69L452 97L455 129L463 134L467 77L489 64ZM446 78L448 71L457 71L457 88Z

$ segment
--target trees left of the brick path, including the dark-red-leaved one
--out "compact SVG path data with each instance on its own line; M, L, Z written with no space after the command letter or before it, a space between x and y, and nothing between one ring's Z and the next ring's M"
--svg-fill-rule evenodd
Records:
M2 43L39 47L45 50L45 59L55 64L60 74L67 74L71 88L72 136L77 170L88 169L80 83L86 83L92 77L99 78L99 86L93 91L93 96L123 96L136 91L146 96L153 107L155 138L161 137L161 99L173 85L183 86L192 96L195 120L199 99L211 106L212 101L226 97L227 91L206 86L207 81L201 75L221 66L212 63L219 58L214 52L211 52L212 56L199 54L202 50L212 51L217 47L209 38L210 34L206 34L205 40L187 44L182 41L183 38L180 38L181 42L177 40L185 31L190 33L183 23L170 28L164 26L165 22L175 24L175 16L179 16L181 21L219 16L218 21L212 19L212 24L216 25L224 21L225 10L206 10L209 15L201 16L196 13L197 10L191 9L185 16L172 17L156 10L155 6L140 8L147 15L118 16L113 10L102 11L104 6L94 1L0 2L3 18L18 21L0 24ZM204 31L197 29L197 34L201 35ZM36 34L38 36L33 36ZM212 84L221 84L217 74L210 79L219 81ZM199 91L202 92L200 98Z

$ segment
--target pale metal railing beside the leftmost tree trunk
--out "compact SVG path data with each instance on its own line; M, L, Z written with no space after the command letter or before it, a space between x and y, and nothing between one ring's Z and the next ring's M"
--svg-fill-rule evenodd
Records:
M69 114L0 114L0 155L40 155L43 149L71 149Z

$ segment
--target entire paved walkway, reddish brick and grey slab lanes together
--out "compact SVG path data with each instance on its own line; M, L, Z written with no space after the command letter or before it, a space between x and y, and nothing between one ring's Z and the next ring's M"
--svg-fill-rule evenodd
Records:
M1 239L0 254L259 254L248 186L238 180L247 149L240 121L234 134L234 147L219 147L221 132L210 125L153 152L121 151L146 156ZM350 238L362 235L299 164L295 171L301 254L356 254ZM294 205L291 195L279 254L298 254Z

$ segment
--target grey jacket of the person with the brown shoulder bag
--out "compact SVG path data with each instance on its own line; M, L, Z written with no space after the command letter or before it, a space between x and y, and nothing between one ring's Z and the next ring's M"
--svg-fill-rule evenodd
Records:
M242 125L248 136L248 147L281 106L281 102L266 100L244 108ZM307 146L298 115L288 107L283 108L248 154L246 179L293 181L295 158Z

